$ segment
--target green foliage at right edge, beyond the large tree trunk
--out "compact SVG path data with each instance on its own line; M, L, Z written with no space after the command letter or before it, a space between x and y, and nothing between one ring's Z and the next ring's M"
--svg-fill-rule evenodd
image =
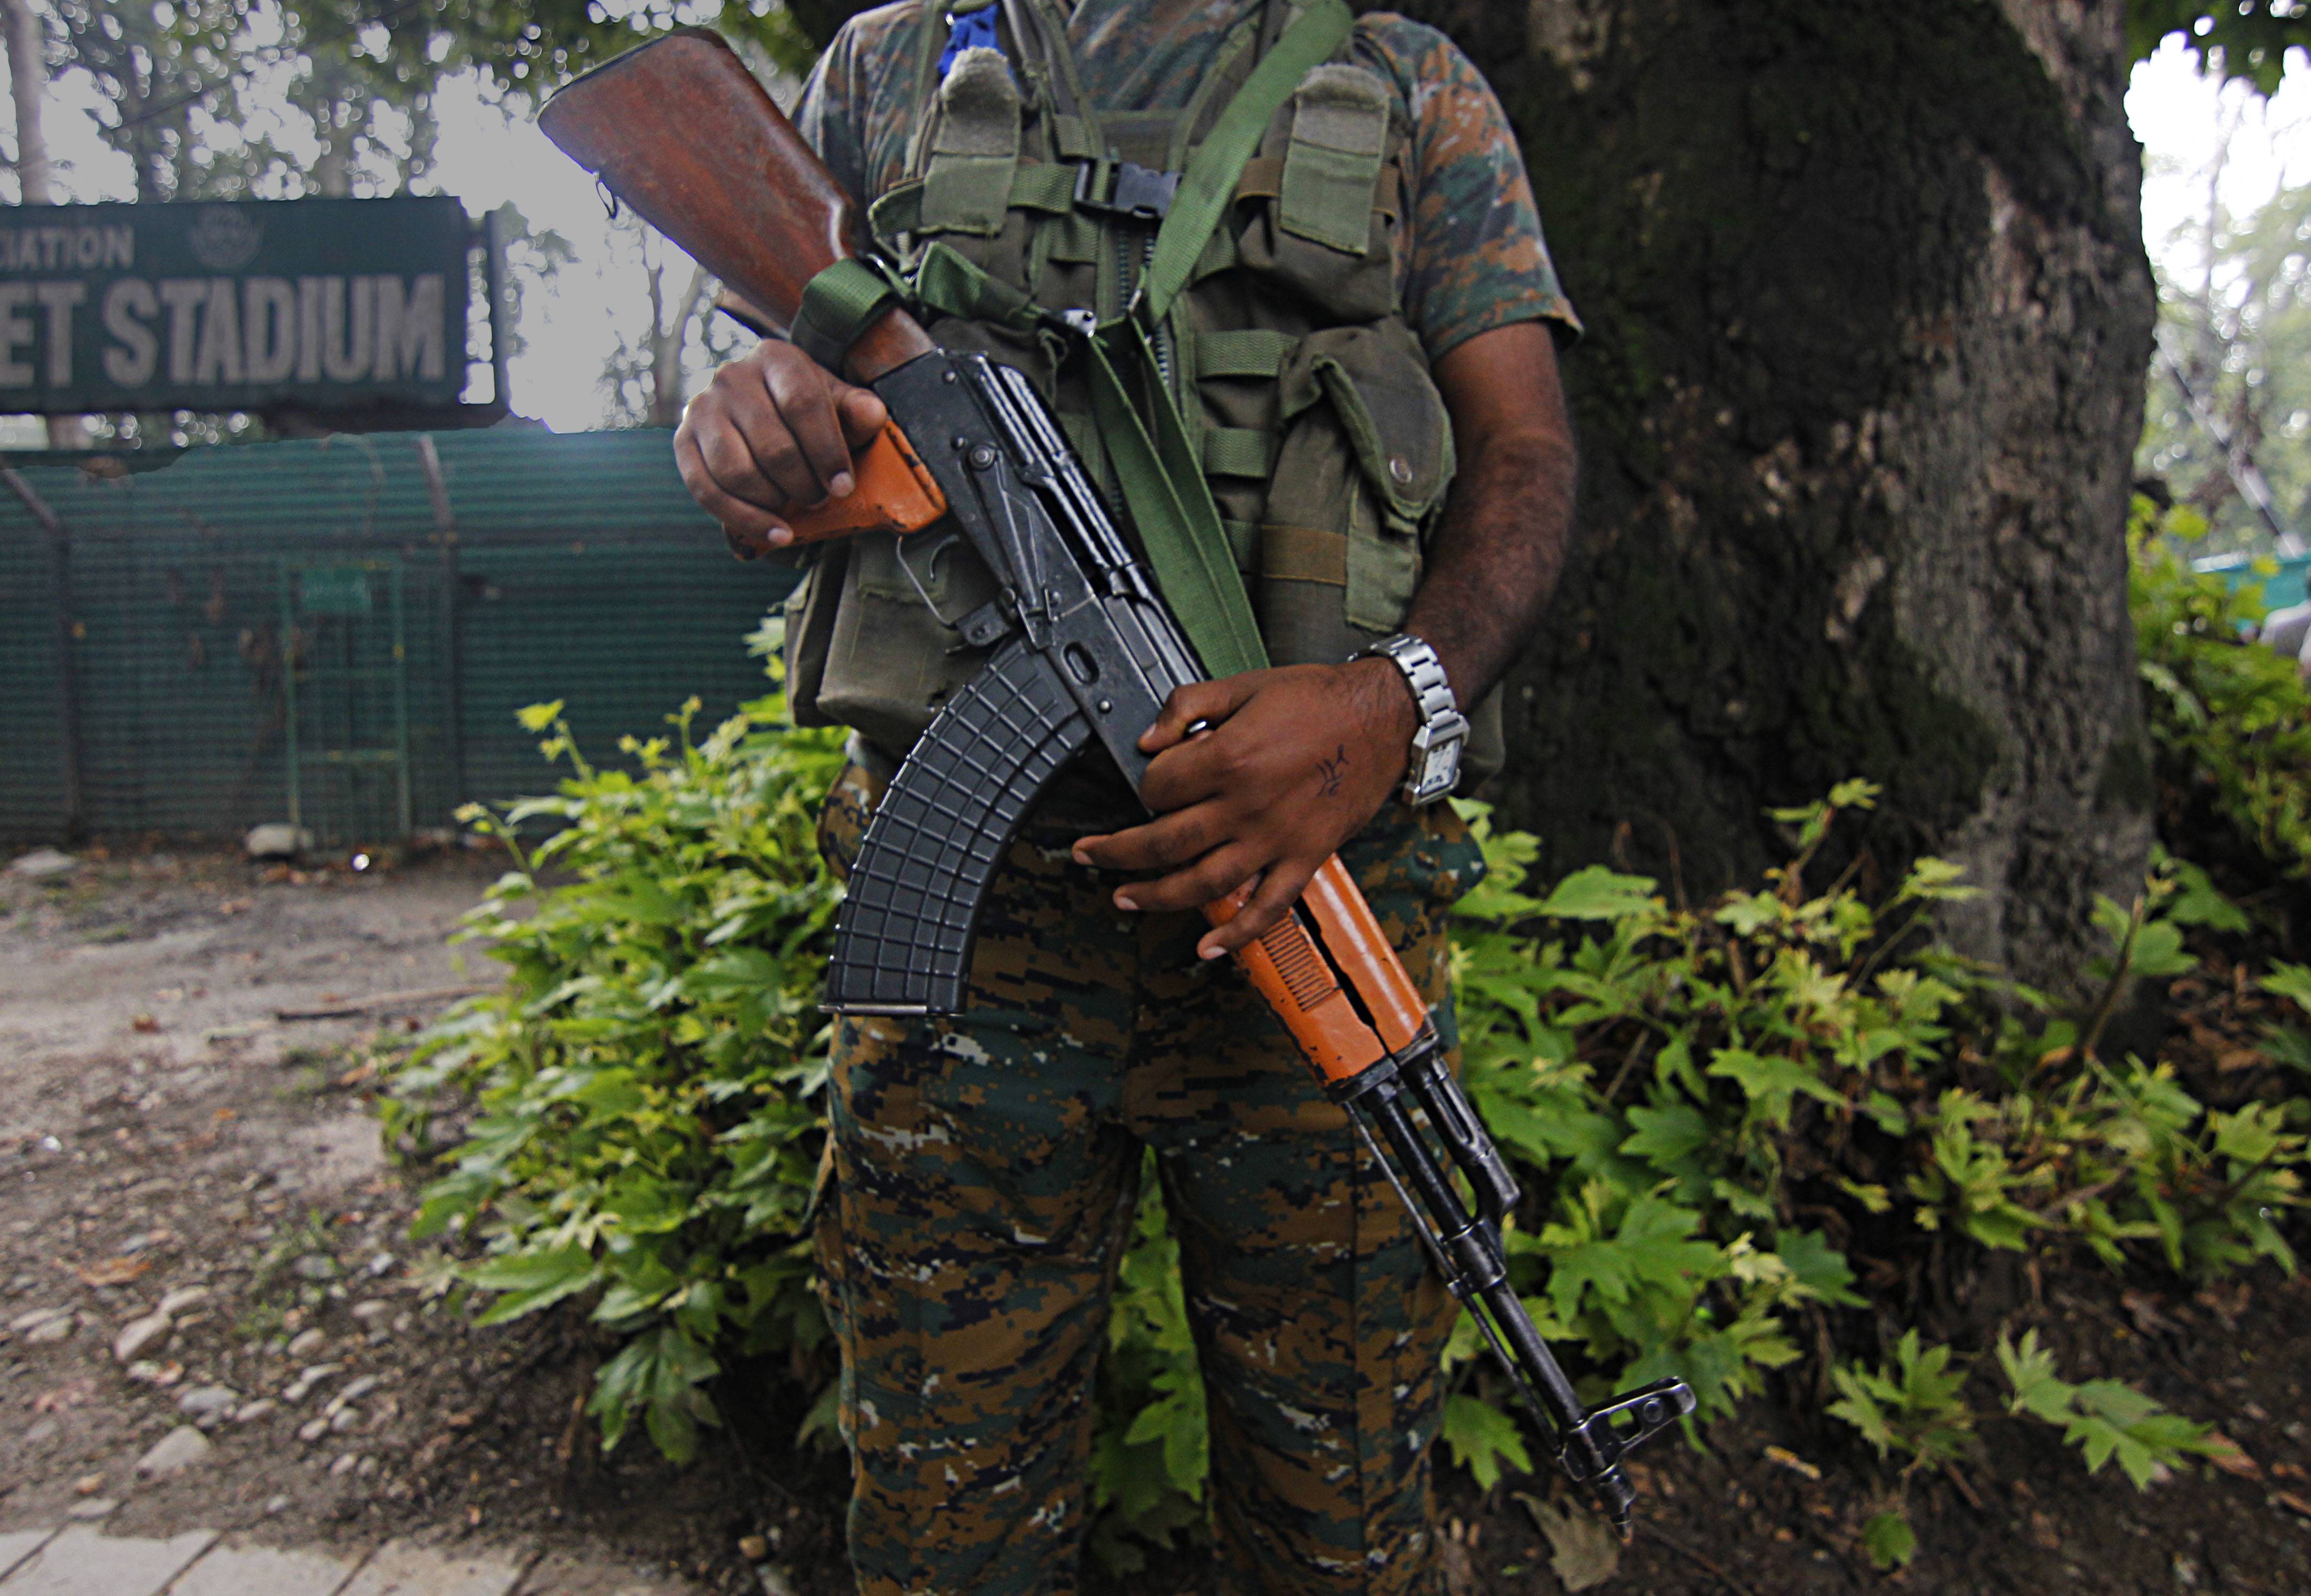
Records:
M2244 642L2262 621L2253 587L2191 570L2205 534L2193 510L2135 499L2126 534L2128 605L2142 702L2168 783L2214 813L2274 868L2311 878L2311 691L2295 661Z

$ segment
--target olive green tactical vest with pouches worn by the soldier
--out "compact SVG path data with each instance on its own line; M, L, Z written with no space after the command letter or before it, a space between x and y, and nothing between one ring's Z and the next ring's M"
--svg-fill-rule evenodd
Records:
M987 307L1121 314L1179 173L1292 7L1248 7L1186 109L1107 111L1086 102L1040 0L948 12L987 5L1001 53L964 51L945 74L927 9L908 176L869 226L915 279L931 337L1026 372L1116 504L1070 337ZM1451 485L1451 420L1396 286L1412 196L1405 113L1343 44L1273 113L1153 340L1276 665L1338 663L1403 626ZM917 273L934 243L998 289ZM978 672L984 649L957 624L994 582L948 527L825 543L811 559L786 607L795 721L850 725L901 755ZM1498 693L1470 718L1463 785L1500 769Z

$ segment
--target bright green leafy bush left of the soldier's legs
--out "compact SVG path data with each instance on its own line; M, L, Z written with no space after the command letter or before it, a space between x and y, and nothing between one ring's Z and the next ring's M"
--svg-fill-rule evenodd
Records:
M763 700L691 739L629 741L638 771L592 769L559 704L522 723L569 765L555 797L467 820L515 868L465 938L508 984L425 1032L395 1072L388 1129L428 1146L430 1113L471 1118L425 1187L421 1233L462 1231L483 1321L587 1298L624 1340L592 1411L686 1457L714 1409L719 1353L825 1335L800 1238L823 1143L818 979L834 889L816 806L841 765L827 734L776 732ZM559 829L525 850L518 827ZM541 889L552 866L566 880Z

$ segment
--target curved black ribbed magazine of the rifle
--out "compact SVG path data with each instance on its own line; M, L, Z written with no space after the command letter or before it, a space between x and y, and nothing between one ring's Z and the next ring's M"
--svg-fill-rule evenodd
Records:
M1091 741L1052 663L1012 637L915 739L850 866L825 1007L954 1014L987 882L1045 785Z

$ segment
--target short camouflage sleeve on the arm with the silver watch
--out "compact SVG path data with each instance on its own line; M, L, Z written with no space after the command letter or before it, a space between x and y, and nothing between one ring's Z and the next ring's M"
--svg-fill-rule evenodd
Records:
M1412 249L1405 321L1431 360L1516 321L1581 330L1558 284L1532 180L1500 97L1451 39L1370 14L1359 44L1377 55L1412 115Z

